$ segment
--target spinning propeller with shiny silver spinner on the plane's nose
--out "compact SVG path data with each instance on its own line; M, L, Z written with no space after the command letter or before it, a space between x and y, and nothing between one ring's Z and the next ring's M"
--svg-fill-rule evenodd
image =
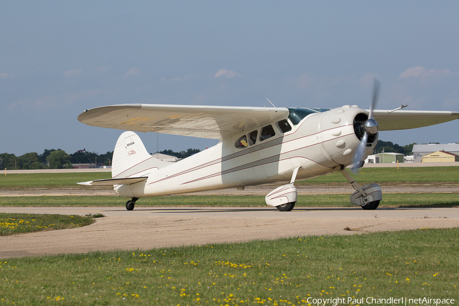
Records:
M370 104L370 112L368 113L368 119L364 120L363 122L360 122L360 126L358 127L358 129L363 135L362 135L362 139L360 140L360 145L357 148L355 155L354 155L354 159L353 159L354 164L351 167L352 170L356 170L363 166L363 163L361 162L363 161L363 158L365 156L365 151L367 148L369 136L370 135L373 136L376 133L378 133L378 122L376 122L376 120L374 120L373 118L373 110L376 108L376 105L378 104L380 85L381 85L381 82L374 79L373 98Z

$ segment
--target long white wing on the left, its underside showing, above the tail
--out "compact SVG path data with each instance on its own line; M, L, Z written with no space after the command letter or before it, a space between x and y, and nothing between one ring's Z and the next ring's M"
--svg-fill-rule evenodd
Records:
M120 104L86 110L82 123L136 132L222 139L287 118L287 108Z

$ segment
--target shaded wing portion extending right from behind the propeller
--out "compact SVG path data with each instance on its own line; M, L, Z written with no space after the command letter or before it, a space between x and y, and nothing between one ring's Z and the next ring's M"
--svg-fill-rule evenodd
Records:
M459 119L459 112L449 111L395 111L374 110L373 117L378 122L379 131L416 129Z

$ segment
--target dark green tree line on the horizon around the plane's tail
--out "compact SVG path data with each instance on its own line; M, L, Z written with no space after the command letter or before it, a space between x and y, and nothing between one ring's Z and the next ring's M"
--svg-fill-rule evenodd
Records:
M199 149L188 149L186 151L174 152L163 150L160 153L184 159L199 152ZM96 152L74 152L67 154L61 149L45 149L42 154L37 152L26 153L21 156L14 154L0 154L0 169L7 170L28 170L28 169L71 169L72 164L96 164L99 166L111 166L113 151L105 154Z

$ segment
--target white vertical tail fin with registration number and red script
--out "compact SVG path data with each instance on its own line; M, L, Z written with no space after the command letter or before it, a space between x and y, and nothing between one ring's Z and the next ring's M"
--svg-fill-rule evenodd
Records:
M148 154L140 137L131 131L118 138L113 152L112 177L148 176L148 173L170 165Z

